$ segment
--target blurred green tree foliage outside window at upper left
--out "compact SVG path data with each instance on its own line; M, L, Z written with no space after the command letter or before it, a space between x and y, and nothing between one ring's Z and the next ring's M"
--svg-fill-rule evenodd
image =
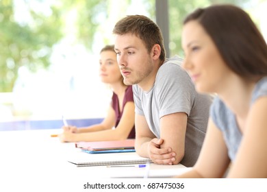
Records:
M70 10L79 13L77 39L90 47L99 23L97 12L106 10L104 0L58 1L50 5L49 16L35 12L29 6L29 23L14 21L14 1L0 1L0 92L12 92L18 69L30 71L49 67L52 47L64 38L66 16Z

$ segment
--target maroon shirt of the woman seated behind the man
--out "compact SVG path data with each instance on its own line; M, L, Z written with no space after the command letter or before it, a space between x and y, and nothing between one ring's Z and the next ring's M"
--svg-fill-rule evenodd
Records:
M133 90L131 88L131 85L128 86L125 90L125 96L123 98L123 110L125 107L125 104L127 104L128 101L133 101ZM120 111L120 107L118 104L118 95L116 95L113 92L112 95L112 108L115 110L115 114L116 114L116 125L115 128L117 127L118 123L120 123L120 118L123 115L123 110ZM136 130L134 128L131 129L131 132L129 133L128 139L135 139L136 138Z

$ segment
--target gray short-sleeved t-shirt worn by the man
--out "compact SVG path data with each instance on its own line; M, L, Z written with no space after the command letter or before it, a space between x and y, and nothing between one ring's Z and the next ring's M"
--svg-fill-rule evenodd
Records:
M192 167L196 162L205 137L209 106L212 97L196 93L188 73L180 67L182 59L175 56L166 60L157 71L149 92L133 85L136 113L144 115L150 130L160 138L160 118L175 112L188 115L185 156L181 164Z

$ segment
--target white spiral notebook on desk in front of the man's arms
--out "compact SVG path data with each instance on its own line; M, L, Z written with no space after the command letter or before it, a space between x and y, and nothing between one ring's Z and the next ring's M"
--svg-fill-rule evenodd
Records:
M68 160L68 162L76 165L77 167L135 165L135 164L152 163L151 159L141 157L138 154L136 154L136 152L114 153L114 154L83 153L79 154L78 156L75 156L75 160Z

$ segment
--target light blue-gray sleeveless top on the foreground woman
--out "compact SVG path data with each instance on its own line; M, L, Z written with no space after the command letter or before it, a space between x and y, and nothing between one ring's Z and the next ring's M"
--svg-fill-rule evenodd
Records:
M267 95L267 77L257 82L251 99L251 105L262 96ZM210 108L210 117L215 125L223 132L225 143L228 148L228 156L234 161L238 147L242 140L242 133L236 122L236 115L220 100L219 97L214 99Z

